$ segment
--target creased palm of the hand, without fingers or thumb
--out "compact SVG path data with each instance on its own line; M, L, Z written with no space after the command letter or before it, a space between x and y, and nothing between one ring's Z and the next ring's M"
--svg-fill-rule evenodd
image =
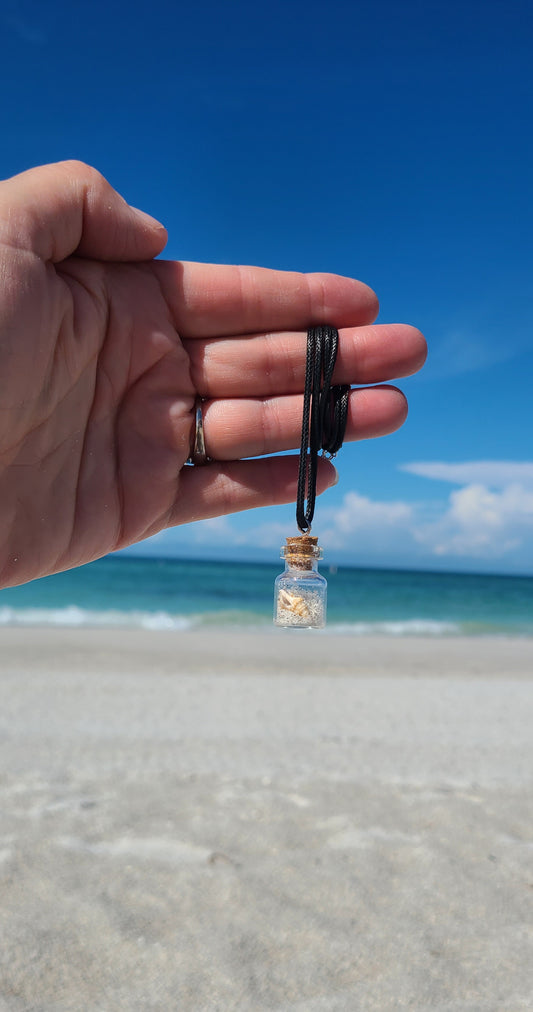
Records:
M12 282L1 493L20 582L166 525L194 390L151 264L22 259Z

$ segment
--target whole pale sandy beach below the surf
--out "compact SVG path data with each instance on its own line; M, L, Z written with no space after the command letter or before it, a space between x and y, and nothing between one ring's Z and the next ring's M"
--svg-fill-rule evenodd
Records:
M0 634L1 1012L533 1009L533 641Z

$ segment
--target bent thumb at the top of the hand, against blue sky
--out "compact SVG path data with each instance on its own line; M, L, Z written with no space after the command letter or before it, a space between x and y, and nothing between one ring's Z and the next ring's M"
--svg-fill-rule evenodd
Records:
M151 260L167 242L162 225L130 207L96 169L58 162L0 182L0 240L59 263Z

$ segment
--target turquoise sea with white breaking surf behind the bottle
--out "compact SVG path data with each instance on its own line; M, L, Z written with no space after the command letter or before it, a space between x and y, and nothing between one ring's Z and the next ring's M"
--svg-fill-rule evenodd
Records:
M0 591L0 625L269 627L281 564L110 556ZM533 578L339 568L328 629L354 635L533 636Z

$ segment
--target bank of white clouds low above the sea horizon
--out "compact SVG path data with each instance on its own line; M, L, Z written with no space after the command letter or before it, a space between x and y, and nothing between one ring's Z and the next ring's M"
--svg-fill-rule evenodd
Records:
M533 567L533 465L427 461L403 470L461 487L427 501L371 499L355 489L338 506L320 501L314 533L330 559L333 553L339 561L364 559L365 565L417 566L450 559L461 565L498 560L522 571ZM162 531L152 540L170 554L268 554L275 561L285 536L296 532L293 516L292 508L276 507L275 512L249 514L246 525L240 516L225 516Z

